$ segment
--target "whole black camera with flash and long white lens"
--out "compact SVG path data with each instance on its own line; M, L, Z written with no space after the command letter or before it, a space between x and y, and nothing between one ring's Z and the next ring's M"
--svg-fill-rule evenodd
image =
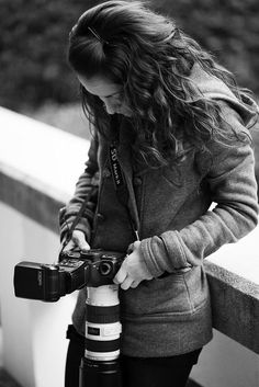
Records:
M119 285L113 277L125 253L92 249L66 251L59 263L23 261L14 268L16 297L57 301L87 286L85 355L79 387L121 387Z

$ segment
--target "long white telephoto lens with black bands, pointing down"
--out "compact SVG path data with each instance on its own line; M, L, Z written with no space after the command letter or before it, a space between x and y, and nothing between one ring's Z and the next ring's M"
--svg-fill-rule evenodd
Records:
M121 387L119 286L88 287L86 350L79 387Z

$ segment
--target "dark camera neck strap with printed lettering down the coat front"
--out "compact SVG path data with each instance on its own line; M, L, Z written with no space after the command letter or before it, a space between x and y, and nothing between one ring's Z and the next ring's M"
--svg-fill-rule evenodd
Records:
M117 200L126 208L132 229L136 236L136 239L139 240L137 225L134 216L132 215L131 208L128 206L131 196L130 196L123 169L117 158L116 143L112 143L110 145L109 158L110 158L110 167L111 167L112 178L113 178L113 185L117 195Z

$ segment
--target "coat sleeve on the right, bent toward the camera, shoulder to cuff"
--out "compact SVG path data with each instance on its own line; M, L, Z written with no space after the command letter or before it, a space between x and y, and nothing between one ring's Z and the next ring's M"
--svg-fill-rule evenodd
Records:
M257 225L257 182L249 134L235 111L230 107L224 111L236 141L235 146L213 140L210 144L212 163L205 179L216 206L181 230L169 230L142 241L145 262L155 277L165 271L201 265L205 257L224 243L236 242ZM201 162L207 163L205 157Z

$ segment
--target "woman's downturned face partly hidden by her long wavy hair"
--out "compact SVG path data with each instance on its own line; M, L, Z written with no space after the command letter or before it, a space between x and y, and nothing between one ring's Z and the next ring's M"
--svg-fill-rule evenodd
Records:
M79 82L91 94L102 100L108 114L123 114L127 117L132 115L130 107L125 104L122 87L113 83L105 77L95 76L86 78L78 75Z

